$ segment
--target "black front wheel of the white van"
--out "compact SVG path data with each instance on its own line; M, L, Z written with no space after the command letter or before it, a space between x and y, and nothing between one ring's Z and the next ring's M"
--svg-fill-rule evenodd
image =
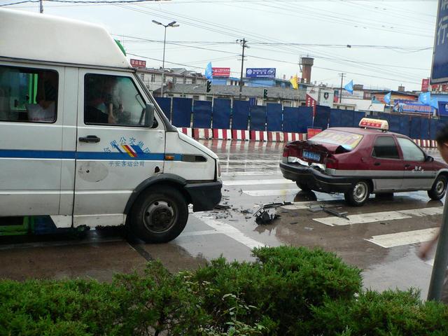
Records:
M178 190L149 188L132 207L130 227L147 243L166 243L181 234L187 220L188 207Z

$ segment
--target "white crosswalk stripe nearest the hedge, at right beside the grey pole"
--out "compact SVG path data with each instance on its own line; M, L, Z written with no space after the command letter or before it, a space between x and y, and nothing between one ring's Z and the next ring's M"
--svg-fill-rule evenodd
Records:
M389 233L388 235L372 236L372 239L365 240L384 248L390 248L395 246L421 243L422 241L430 241L438 230L438 228L430 228L407 232Z

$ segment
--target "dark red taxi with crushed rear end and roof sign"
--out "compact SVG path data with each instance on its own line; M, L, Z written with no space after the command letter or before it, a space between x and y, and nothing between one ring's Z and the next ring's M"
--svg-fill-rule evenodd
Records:
M356 127L335 127L283 149L281 173L305 191L344 193L363 205L369 195L428 190L432 200L447 191L448 165L435 161L386 120L363 118Z

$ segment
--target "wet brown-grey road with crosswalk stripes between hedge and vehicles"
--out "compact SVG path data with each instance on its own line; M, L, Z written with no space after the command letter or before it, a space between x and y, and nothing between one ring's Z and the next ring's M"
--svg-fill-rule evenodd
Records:
M0 277L62 279L92 277L110 281L116 272L141 270L159 259L171 271L195 269L223 255L228 260L253 260L256 246L321 247L363 269L364 286L421 288L426 297L430 260L416 256L421 242L433 235L442 219L442 202L426 192L371 196L364 207L346 207L343 195L304 193L283 179L279 160L283 144L202 141L221 159L223 201L228 210L190 214L186 230L167 244L128 241L120 230L93 230L85 237L52 235L0 237ZM436 160L437 151L430 151ZM260 204L293 202L279 207L281 217L257 225L252 216ZM349 220L309 206L347 212ZM433 258L433 257L432 257Z

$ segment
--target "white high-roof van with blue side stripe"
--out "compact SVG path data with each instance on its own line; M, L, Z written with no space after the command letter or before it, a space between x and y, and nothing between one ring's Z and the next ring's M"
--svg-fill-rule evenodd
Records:
M218 157L169 123L97 25L0 9L0 216L176 238L221 201Z

